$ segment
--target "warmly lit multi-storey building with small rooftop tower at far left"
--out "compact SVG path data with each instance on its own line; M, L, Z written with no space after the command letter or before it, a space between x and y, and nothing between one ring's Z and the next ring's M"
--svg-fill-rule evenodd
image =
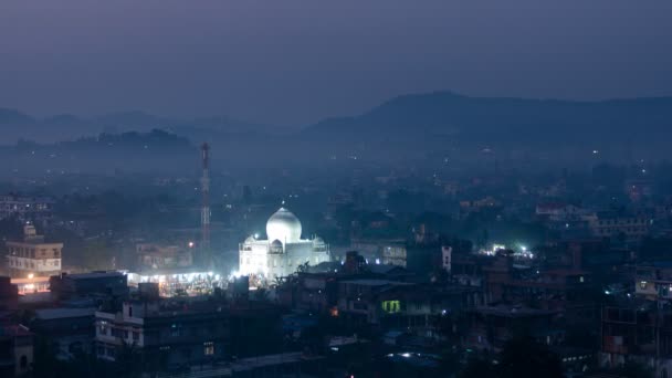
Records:
M10 276L50 276L61 273L63 243L46 243L32 224L23 228L23 241L7 242Z

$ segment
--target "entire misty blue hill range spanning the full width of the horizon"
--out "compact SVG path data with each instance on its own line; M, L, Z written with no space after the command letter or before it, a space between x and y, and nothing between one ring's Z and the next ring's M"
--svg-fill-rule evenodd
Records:
M537 162L586 167L596 158L621 162L672 158L672 97L575 102L435 92L398 96L357 116L293 129L225 116L177 119L123 112L40 119L0 108L0 143L10 146L18 139L57 144L101 133L165 130L193 146L208 140L213 161L220 159L228 168L359 158L424 165L451 161L461 167L494 166L493 161L502 167ZM60 148L64 151L65 146Z

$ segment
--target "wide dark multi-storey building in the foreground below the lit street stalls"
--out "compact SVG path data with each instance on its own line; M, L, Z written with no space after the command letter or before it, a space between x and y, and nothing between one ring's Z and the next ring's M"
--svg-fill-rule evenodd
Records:
M155 290L125 302L120 311L95 313L95 355L114 361L133 348L144 370L203 366L263 353L277 342L271 340L276 328L280 315L270 305L229 305L214 297L165 300Z

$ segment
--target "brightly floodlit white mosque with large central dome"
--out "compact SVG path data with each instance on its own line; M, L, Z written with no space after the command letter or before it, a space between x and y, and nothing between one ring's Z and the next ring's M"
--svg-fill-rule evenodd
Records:
M329 261L329 245L322 238L301 239L301 221L280 208L266 222L267 239L249 237L240 244L239 273L275 280L295 273L300 265Z

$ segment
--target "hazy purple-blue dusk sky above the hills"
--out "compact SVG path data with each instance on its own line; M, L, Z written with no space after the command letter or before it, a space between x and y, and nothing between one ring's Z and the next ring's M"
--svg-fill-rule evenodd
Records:
M307 124L398 94L672 95L670 0L0 0L0 107Z

